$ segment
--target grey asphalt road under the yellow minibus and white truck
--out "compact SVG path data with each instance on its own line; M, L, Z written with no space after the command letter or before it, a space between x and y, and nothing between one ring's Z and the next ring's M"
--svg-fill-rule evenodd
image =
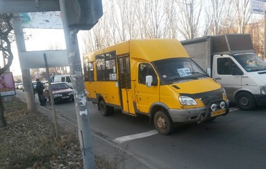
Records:
M52 110L49 103L44 108ZM57 115L77 123L73 101L56 104L55 109ZM154 168L266 168L266 107L230 110L215 121L180 126L164 136L147 117L131 117L120 110L102 117L97 105L88 102L92 132Z

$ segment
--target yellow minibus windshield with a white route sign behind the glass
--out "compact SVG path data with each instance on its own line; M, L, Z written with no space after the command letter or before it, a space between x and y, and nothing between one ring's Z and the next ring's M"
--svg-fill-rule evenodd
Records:
M208 77L208 75L190 58L172 58L154 61L154 66L162 80L178 83Z

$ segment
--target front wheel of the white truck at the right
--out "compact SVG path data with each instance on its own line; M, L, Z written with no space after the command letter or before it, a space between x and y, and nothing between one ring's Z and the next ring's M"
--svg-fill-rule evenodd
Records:
M236 96L236 106L241 110L252 110L255 108L256 102L249 92L241 92Z

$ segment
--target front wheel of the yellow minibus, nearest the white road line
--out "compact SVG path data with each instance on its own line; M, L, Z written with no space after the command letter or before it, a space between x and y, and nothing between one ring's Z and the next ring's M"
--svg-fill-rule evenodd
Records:
M154 126L162 135L169 135L173 132L173 121L163 112L158 111L154 116Z

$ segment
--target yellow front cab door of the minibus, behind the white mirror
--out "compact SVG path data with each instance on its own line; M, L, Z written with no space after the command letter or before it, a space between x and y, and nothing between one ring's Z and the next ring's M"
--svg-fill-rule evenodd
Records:
M151 86L146 84L146 77L149 75L153 79ZM137 110L142 113L149 113L151 105L160 101L158 76L150 63L140 63L138 66L135 95Z

